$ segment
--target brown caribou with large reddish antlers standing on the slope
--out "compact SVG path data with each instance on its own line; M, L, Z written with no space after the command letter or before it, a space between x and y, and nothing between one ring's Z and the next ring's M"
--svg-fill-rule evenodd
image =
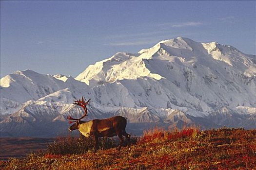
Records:
M85 99L82 97L78 101L74 101L73 104L79 105L83 108L84 114L79 119L74 119L71 116L68 116L67 119L75 120L69 121L69 123L74 123L71 125L68 130L72 132L73 130L79 130L79 132L85 137L94 137L95 140L95 152L98 150L98 137L113 137L118 136L119 146L118 151L121 149L125 136L129 149L131 148L130 135L126 133L125 128L127 121L122 116L115 116L108 119L93 119L90 121L82 121L85 116L87 116L87 107L86 105L90 99L85 102Z

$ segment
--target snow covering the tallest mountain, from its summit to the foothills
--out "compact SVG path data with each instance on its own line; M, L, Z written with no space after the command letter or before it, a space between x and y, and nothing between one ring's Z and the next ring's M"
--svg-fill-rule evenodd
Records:
M132 57L123 62L110 62L107 67L101 65L100 76L92 69L98 66L96 63L76 79L92 83L92 86L97 82L94 88L101 88L100 84L106 88L107 83L111 83L110 86L119 83L128 93L125 96L140 107L163 108L170 102L174 107L208 114L225 106L256 106L256 64L252 56L234 47L177 37L129 56ZM85 72L92 74L84 75Z

